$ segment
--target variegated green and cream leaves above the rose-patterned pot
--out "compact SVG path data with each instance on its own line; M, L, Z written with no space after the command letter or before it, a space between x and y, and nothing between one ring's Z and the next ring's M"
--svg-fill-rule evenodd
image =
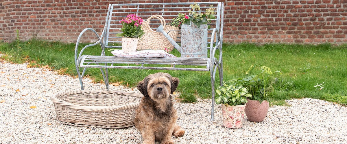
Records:
M216 89L216 104L244 105L247 103L247 97L252 97L242 85L228 85L225 81L223 81L223 85Z

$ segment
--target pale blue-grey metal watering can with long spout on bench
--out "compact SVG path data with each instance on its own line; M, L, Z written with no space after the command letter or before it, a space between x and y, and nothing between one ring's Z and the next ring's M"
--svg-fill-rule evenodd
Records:
M181 46L172 39L160 25L156 32L162 33L172 45L181 53L181 57L207 58L207 25L198 28L195 25L181 25Z

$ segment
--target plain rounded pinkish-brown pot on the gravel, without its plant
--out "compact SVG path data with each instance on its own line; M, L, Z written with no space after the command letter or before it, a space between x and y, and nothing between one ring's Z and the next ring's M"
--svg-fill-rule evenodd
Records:
M259 100L247 99L247 101L245 109L247 119L251 122L257 123L264 121L266 115L268 115L269 102L263 100L260 104Z

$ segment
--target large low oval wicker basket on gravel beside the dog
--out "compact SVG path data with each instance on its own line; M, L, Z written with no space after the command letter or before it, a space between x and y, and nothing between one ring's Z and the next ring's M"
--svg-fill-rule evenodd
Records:
M134 126L135 109L142 94L79 90L51 96L57 118L63 124L99 128Z

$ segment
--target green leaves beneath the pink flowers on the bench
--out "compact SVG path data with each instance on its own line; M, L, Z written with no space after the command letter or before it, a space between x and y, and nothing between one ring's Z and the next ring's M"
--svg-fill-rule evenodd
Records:
M141 27L133 26L132 23L123 23L123 27L120 29L122 33L117 33L117 37L127 37L127 38L141 38L145 32Z

